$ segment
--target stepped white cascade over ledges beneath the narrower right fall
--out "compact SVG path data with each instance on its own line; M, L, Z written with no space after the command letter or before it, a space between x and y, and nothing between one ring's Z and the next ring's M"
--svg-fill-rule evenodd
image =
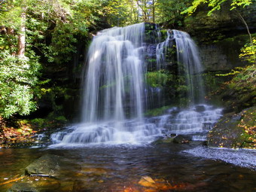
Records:
M166 135L190 134L193 140L206 140L206 133L222 116L221 108L212 105L194 105L190 108L179 110L172 108L160 117L154 117L158 127L165 129Z

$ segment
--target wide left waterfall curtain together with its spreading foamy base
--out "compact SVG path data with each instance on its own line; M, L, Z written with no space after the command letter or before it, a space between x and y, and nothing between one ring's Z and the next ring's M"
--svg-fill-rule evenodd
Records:
M145 23L99 32L90 45L82 122L55 133L59 145L151 142L159 135L143 120ZM132 119L132 120L130 120Z

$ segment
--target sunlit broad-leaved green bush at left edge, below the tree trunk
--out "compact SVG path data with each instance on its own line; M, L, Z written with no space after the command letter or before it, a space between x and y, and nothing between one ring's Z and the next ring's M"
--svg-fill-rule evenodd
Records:
M0 52L0 116L29 114L35 111L33 88L38 83L37 59Z

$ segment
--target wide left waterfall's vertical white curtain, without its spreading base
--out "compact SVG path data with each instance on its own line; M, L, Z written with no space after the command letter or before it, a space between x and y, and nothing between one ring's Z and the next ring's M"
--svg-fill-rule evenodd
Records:
M145 24L99 32L90 45L82 120L142 120Z

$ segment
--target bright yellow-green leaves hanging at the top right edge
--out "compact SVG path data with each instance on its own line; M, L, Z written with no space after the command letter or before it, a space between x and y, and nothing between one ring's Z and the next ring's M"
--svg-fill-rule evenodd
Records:
M239 6L245 7L247 5L251 5L252 1L253 0L232 0L230 3L230 10L233 10ZM224 2L227 2L227 0L194 0L192 5L186 10L182 11L181 14L193 14L201 4L207 4L208 7L211 8L208 15L211 15L213 11L220 10L221 5L223 5Z

